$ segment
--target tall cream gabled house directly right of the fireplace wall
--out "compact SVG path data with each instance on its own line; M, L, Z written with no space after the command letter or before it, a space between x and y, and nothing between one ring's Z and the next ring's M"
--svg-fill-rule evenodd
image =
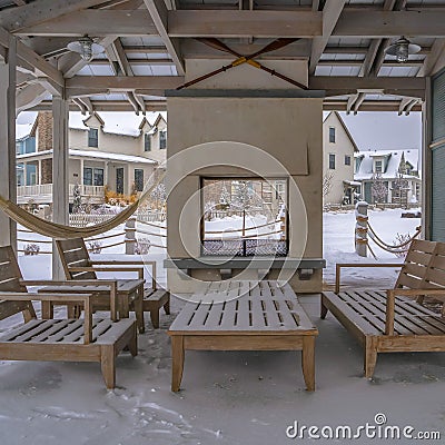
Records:
M359 184L354 180L354 154L358 148L337 111L323 121L323 200L353 204Z

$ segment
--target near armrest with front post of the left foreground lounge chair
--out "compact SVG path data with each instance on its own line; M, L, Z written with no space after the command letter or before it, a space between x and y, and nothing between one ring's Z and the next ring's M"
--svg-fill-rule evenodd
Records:
M1 291L0 299L10 301L48 301L48 303L81 303L85 309L83 344L92 342L92 306L91 294L29 294Z

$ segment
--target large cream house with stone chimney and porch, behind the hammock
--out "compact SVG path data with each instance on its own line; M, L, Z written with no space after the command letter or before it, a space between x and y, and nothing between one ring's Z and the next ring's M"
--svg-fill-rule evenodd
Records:
M31 126L18 126L18 202L52 201L52 116L42 111ZM167 121L132 113L95 112L69 117L69 196L80 187L83 201L101 204L105 187L118 194L142 191L154 169L166 159Z

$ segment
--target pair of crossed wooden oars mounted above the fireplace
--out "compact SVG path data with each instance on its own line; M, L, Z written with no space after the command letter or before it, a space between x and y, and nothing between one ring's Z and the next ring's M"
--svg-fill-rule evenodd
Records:
M218 39L201 38L201 39L197 39L197 40L199 40L200 42L202 42L202 43L205 43L205 44L207 44L207 46L209 46L211 48L218 49L218 50L224 51L224 52L228 52L228 53L237 57L237 59L234 60L230 65L226 65L226 66L224 66L224 67L221 67L221 68L219 68L219 69L217 69L215 71L211 71L211 72L209 72L207 75L204 75L204 76L198 77L198 78L196 78L194 80L190 80L187 83L181 85L180 87L177 88L177 90L181 90L182 88L190 87L190 86L192 86L195 83L198 83L198 82L200 82L202 80L209 79L210 77L219 75L220 72L227 71L230 68L238 67L239 65L243 65L243 63L248 63L248 65L250 65L250 66L253 66L255 68L258 68L258 69L260 69L263 71L268 72L271 76L276 76L276 77L285 80L286 82L289 82L289 83L291 83L291 85L294 85L296 87L299 87L299 88L303 88L304 90L307 90L307 87L305 85L303 85L303 83L300 83L300 82L298 82L298 81L296 81L294 79L290 79L287 76L275 71L274 69L267 68L264 65L259 63L258 61L254 60L256 57L258 57L260 55L264 55L264 53L270 52L270 51L276 51L277 49L284 48L287 44L293 43L294 41L299 40L299 39L285 39L285 38L281 38L281 39L274 40L273 42L270 42L269 44L267 44L266 47L264 47L263 49L260 49L259 51L257 51L257 52L255 52L255 53L253 53L250 56L241 56L241 55L239 55L237 51L233 50L231 48L229 48L227 44L222 43Z

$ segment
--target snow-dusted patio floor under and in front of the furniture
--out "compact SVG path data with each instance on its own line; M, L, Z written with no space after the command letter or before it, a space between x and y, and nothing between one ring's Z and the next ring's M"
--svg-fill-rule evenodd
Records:
M290 439L286 428L374 424L437 431L445 437L445 354L382 354L373 380L363 377L363 350L328 315L319 296L300 301L319 329L315 393L307 393L300 354L287 352L187 352L182 389L170 392L172 315L161 329L139 337L140 353L117 363L113 392L97 364L1 363L0 443L10 444L224 444L342 443ZM148 322L149 323L149 322ZM442 441L352 441L444 443Z

